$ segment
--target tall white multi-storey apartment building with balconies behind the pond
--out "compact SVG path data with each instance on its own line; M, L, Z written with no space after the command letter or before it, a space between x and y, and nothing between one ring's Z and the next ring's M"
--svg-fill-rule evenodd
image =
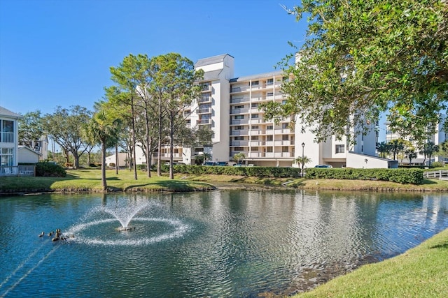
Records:
M358 135L356 144L349 145L346 136L337 140L335 135L325 142L314 142L315 135L309 131L301 133L300 124L291 127L291 119L279 119L278 124L265 121L264 112L258 107L269 101L286 102L281 84L289 78L281 71L235 77L234 60L229 54L222 54L200 59L195 64L195 68L204 70L202 95L183 113L188 126L208 126L214 135L211 144L203 147L175 147L175 162L194 164L195 156L204 153L210 154L215 162L232 162L233 156L242 152L246 164L259 166L297 166L294 160L302 154L311 158L305 167L398 166L395 161L376 156L374 125L370 133ZM354 134L353 130L349 133ZM168 147L160 154L162 160L169 160ZM145 163L144 156L139 155L142 154L137 154L137 163ZM154 162L155 158L157 153Z

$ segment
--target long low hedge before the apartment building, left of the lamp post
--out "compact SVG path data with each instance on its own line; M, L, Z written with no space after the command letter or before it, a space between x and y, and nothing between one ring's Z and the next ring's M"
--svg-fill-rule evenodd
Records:
M216 165L175 165L174 171L183 174L197 175L216 174L276 178L300 177L300 168L298 167L221 167Z

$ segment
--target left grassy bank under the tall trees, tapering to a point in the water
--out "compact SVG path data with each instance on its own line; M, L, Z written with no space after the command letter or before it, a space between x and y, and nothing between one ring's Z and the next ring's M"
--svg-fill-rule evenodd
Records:
M146 177L146 172L138 172L138 179L134 179L134 172L120 170L106 171L108 191L205 191L214 186L200 181L187 179L168 179L168 177ZM40 192L101 192L101 170L82 169L67 170L67 176L60 177L0 177L0 193L40 193Z

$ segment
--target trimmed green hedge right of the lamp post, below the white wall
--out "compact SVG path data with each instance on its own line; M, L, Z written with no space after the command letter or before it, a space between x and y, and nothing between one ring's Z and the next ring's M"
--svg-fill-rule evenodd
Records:
M421 184L421 169L321 169L311 167L306 170L308 179L359 179L398 182L400 184Z

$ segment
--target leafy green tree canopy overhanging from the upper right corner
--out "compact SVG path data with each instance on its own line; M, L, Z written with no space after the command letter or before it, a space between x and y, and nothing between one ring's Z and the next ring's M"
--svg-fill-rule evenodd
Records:
M386 111L414 140L433 132L447 107L448 1L302 0L287 10L307 17L307 36L283 59L288 100L265 105L268 119L295 116L318 141L347 126L365 132Z

